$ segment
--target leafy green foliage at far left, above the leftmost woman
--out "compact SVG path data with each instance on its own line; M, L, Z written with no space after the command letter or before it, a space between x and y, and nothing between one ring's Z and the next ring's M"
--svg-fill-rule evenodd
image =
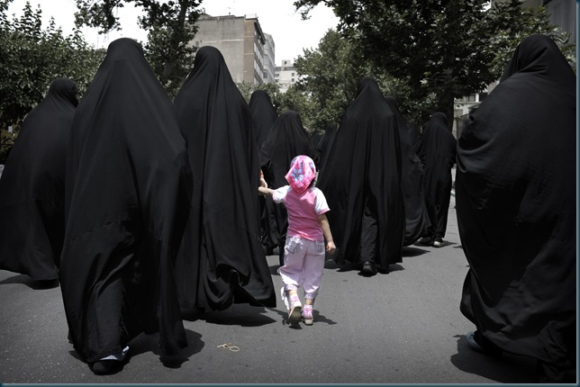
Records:
M104 52L90 47L80 31L64 36L54 19L42 29L41 8L26 3L16 19L6 14L11 0L0 0L0 163L5 162L20 122L41 102L50 83L64 76L82 94L95 76ZM7 131L13 126L13 132Z

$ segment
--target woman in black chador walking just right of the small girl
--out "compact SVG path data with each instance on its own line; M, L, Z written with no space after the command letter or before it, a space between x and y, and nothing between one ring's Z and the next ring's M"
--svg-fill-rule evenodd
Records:
M320 172L339 263L363 275L402 262L405 234L401 140L394 113L375 80L358 83Z

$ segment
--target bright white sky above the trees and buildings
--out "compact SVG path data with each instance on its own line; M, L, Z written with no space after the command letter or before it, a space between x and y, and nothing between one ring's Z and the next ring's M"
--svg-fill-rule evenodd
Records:
M70 33L75 24L77 4L75 0L29 0L32 10L41 4L42 27L48 27L50 16L54 17L57 26L65 34ZM295 0L204 0L202 7L206 14L223 16L231 14L244 16L256 14L258 22L267 34L272 35L276 47L276 65L282 60L293 60L303 55L303 49L316 49L322 36L331 28L335 28L339 19L332 10L323 4L317 5L311 11L311 18L302 21L300 13L295 13ZM8 9L8 14L19 17L26 0L14 0ZM112 31L107 35L99 34L92 28L81 28L86 41L95 48L106 48L109 43L121 37L136 40L147 40L147 32L137 25L139 11L132 5L125 5L119 10L118 16L122 23L122 31Z

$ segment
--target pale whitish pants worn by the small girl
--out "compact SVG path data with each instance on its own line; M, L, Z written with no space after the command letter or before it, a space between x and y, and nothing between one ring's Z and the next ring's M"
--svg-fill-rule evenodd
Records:
M314 300L322 283L324 241L286 238L284 266L278 269L285 291L304 289L304 298Z

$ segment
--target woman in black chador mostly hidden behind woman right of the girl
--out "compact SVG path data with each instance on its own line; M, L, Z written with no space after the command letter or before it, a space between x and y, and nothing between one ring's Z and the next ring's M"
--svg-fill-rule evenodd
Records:
M404 197L405 234L403 246L415 243L430 226L423 193L423 166L412 147L411 135L392 96L385 97L397 121L401 139L401 187Z

